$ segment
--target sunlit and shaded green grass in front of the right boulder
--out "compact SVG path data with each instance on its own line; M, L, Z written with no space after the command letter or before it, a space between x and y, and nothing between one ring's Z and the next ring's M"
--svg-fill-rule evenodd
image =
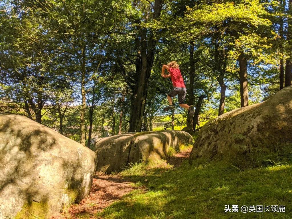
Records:
M185 161L178 168L132 165L119 174L131 180L137 189L94 216L110 219L292 218L291 145L287 148L268 155L248 154L252 159L242 156L234 160L197 160L192 164ZM263 166L269 164L263 159L281 161L284 165ZM286 212L224 213L227 204L285 205Z

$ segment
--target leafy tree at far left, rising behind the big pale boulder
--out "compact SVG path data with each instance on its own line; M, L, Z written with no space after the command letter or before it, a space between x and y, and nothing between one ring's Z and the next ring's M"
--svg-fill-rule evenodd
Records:
M15 103L24 103L27 117L42 123L52 84L62 77L62 72L54 72L53 32L47 20L27 4L15 1L3 7L0 76L4 95Z

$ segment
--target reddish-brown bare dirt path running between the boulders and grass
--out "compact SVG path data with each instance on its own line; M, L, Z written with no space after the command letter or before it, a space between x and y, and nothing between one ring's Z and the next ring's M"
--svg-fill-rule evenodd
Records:
M184 152L179 152L173 157L167 158L168 164L175 168L180 166L183 161L188 159L191 149ZM116 175L106 175L104 173L96 173L93 178L91 191L85 199L82 199L78 204L73 204L69 207L68 212L54 215L50 219L75 219L82 214L90 214L94 218L94 214L102 211L103 208L112 204L112 202L120 200L121 197L134 188L124 179Z

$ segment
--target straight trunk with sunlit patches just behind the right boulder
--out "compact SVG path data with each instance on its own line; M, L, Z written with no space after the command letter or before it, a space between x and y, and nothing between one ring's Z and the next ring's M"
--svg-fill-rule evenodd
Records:
M247 61L243 52L240 53L238 61L241 107L246 107L248 106Z

